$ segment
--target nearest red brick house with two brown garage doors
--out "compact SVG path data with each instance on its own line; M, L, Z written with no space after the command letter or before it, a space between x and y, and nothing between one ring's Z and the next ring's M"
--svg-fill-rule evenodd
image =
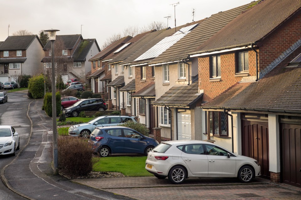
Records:
M301 121L300 90L284 81L289 77L287 82L300 88L300 64L291 70L297 78L283 70L300 54L300 4L260 1L189 53L198 58L199 89L204 90L202 139L257 159L262 177L298 187L300 173L281 168L285 162L296 162L284 154L300 155L300 146L281 141L289 137L286 130L300 130L294 126ZM287 94L279 94L283 90ZM291 139L299 143L300 133L296 134Z

